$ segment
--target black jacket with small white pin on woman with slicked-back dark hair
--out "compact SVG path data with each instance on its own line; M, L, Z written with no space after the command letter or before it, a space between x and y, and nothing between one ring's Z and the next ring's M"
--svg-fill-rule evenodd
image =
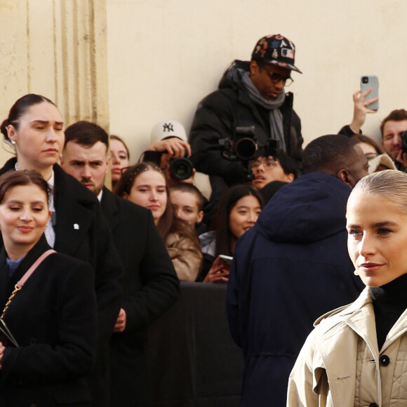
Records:
M15 168L9 159L0 175ZM88 262L98 300L98 355L89 384L95 406L107 406L109 340L121 303L121 262L98 199L55 164L55 245L59 253Z

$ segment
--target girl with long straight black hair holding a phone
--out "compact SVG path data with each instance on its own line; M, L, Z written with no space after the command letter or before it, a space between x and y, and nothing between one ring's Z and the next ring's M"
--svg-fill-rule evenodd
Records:
M219 255L233 257L237 239L250 229L263 208L260 193L249 185L234 185L220 200L215 218L215 230L199 236L204 267L196 281L226 282L229 267L219 261Z

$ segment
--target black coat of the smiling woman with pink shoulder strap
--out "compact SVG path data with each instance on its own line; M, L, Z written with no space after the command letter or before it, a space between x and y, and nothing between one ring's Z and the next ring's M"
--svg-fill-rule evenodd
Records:
M1 309L15 283L49 248L43 235L10 278L1 249ZM49 255L15 295L4 319L19 347L4 352L0 405L91 406L85 380L96 349L91 267L60 253Z

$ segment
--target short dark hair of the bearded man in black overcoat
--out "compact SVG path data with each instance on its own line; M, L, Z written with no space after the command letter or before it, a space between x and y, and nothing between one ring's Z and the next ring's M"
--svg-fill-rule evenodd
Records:
M76 121L76 123L68 126L65 129L65 145L69 141L86 147L92 147L100 141L106 145L106 149L109 149L109 135L103 128L91 123L91 121Z

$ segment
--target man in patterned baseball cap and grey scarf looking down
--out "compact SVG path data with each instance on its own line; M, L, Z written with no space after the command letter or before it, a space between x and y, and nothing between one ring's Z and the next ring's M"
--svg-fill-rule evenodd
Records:
M220 80L219 89L198 105L189 143L197 171L210 175L213 194L243 181L243 164L222 154L219 140L236 138L236 127L255 126L257 141L270 138L297 161L302 156L300 118L293 110L293 93L285 93L294 65L295 46L286 37L263 36L251 61L234 60ZM224 153L224 150L223 150Z

